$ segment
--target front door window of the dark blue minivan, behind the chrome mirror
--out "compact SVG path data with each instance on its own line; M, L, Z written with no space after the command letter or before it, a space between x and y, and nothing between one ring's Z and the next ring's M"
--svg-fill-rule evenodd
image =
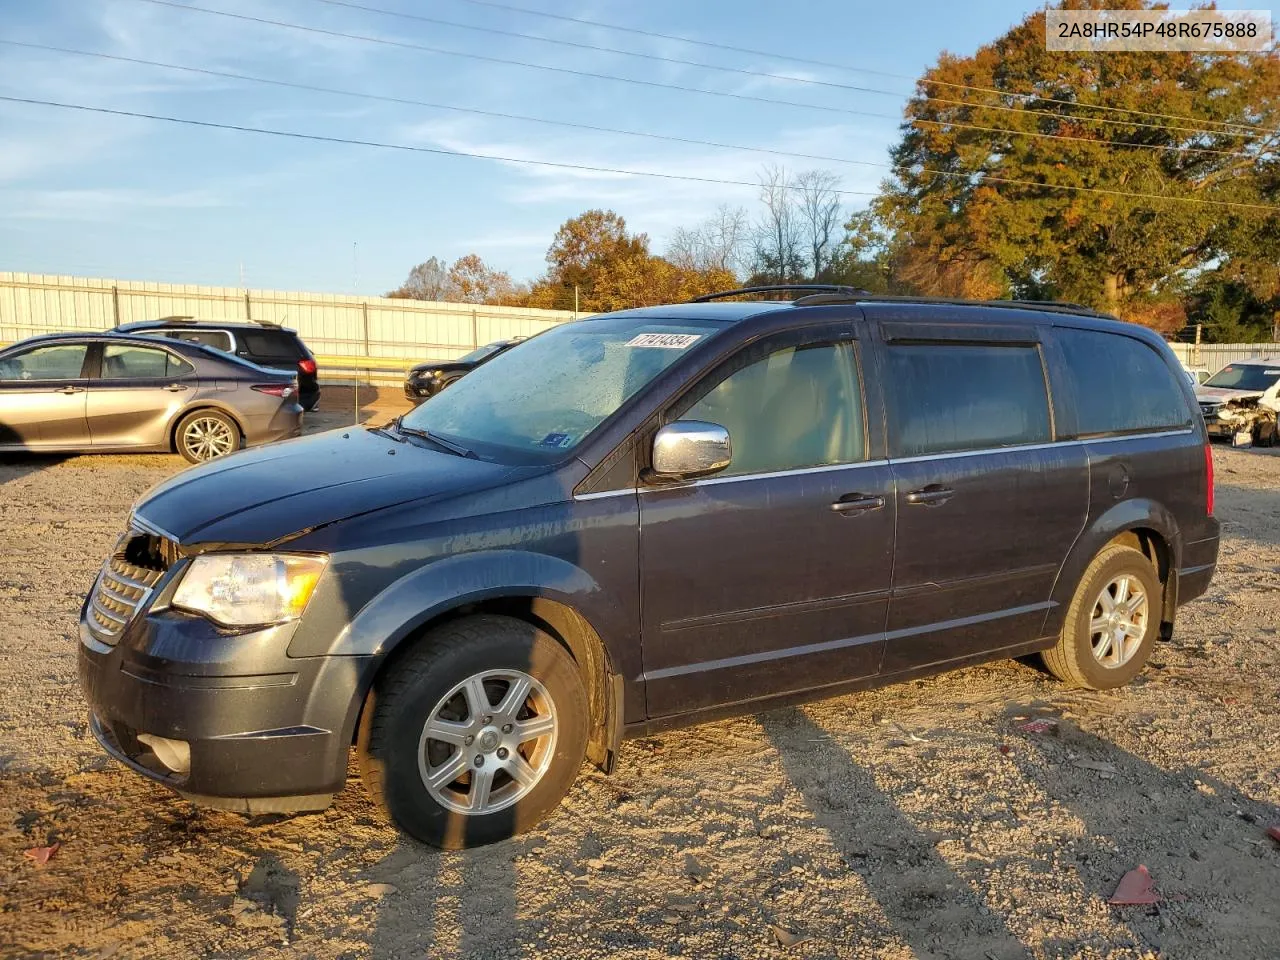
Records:
M721 476L852 463L864 458L861 392L847 343L786 347L714 383L681 420L728 430Z

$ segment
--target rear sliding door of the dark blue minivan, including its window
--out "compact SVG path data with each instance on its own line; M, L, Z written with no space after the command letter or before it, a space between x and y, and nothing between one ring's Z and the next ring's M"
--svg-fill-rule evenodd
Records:
M883 672L1036 640L1089 499L1084 451L1052 442L1038 334L881 329L897 485Z

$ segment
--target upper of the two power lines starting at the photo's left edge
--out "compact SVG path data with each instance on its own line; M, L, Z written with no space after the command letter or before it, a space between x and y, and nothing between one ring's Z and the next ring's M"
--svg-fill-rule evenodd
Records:
M502 111L497 111L497 110L481 110L481 109L477 109L477 108L457 106L454 104L439 104L439 102L434 102L434 101L429 101L429 100L415 100L412 97L397 97L397 96L389 96L389 95L384 95L384 93L366 93L366 92L353 91L353 90L340 90L340 88L337 88L337 87L321 87L321 86L316 86L316 84L311 84L311 83L298 83L298 82L294 82L294 81L275 79L275 78L271 78L271 77L257 77L257 76L247 74L247 73L233 73L230 70L214 70L214 69L209 69L209 68L205 68L205 67L192 67L189 64L172 64L172 63L164 63L164 61L160 61L160 60L145 60L145 59L141 59L141 58L137 58L137 56L123 56L123 55L119 55L119 54L104 54L104 52L97 52L97 51L92 51L92 50L76 50L73 47L51 46L51 45L47 45L47 44L32 44L32 42L22 41L22 40L4 40L4 38L0 38L0 44L8 45L8 46L23 47L23 49L28 49L28 50L45 50L45 51L56 52L56 54L73 54L76 56L91 56L91 58L97 58L97 59L102 59L102 60L111 60L111 61L116 61L116 63L129 63L129 64L138 64L138 65L143 65L143 67L159 67L159 68L166 69L166 70L180 70L183 73L195 73L195 74L207 76L207 77L219 77L219 78L223 78L223 79L243 81L243 82L248 82L248 83L264 83L264 84L269 84L269 86L285 87L285 88L289 88L289 90L302 90L302 91L307 91L307 92L312 92L312 93L326 93L326 95L334 95L334 96L346 96L346 97L355 97L355 99L358 99L358 100L372 100L372 101L379 101L379 102L399 104L399 105L407 105L407 106L425 106L428 109L434 109L434 110L449 110L449 111L453 111L453 113L477 114L480 116L493 116L493 118L504 119L504 120L518 120L518 122L524 122L524 123L540 123L540 124L547 124L547 125L553 125L553 127L567 127L567 128L571 128L571 129L584 129L584 131L590 131L590 132L594 132L594 133L612 133L612 134L620 134L620 136L627 136L627 137L641 137L641 138L645 138L645 140L655 140L655 141L662 141L662 142L684 143L684 145L689 145L689 146L713 147L713 148L717 148L717 150L739 150L739 151L744 151L744 152L765 154L765 155L771 155L771 156L782 156L782 157L791 157L791 159L800 159L800 160L818 160L818 161L822 161L822 163L850 164L850 165L854 165L854 166L873 166L873 168L877 168L877 169L893 170L893 172L897 172L900 169L899 166L895 166L893 164L887 164L887 163L876 161L876 160L852 160L852 159L840 157L840 156L826 156L826 155L822 155L822 154L800 154L800 152L795 152L795 151L776 150L773 147L750 146L750 145L745 145L745 143L726 143L726 142L722 142L722 141L713 141L713 140L696 140L696 138L692 138L692 137L676 137L676 136L669 136L669 134L664 134L664 133L650 133L648 131L631 131L631 129L622 129L622 128L617 128L617 127L600 127L600 125L596 125L596 124L577 123L577 122L572 122L572 120L552 120L552 119L543 118L543 116L527 116L527 115L524 115L524 114L511 114L511 113L502 113ZM925 123L936 123L936 122L928 120ZM1094 142L1094 141L1091 141L1091 142ZM1010 184L1010 186L1047 187L1047 188L1051 188L1051 189L1092 189L1089 187L1073 187L1070 184L1041 183L1039 180L997 178L995 175L983 174L980 172L963 173L963 172L955 172L955 170L940 170L940 169L936 169L936 168L922 168L920 172L922 173L928 173L928 174L934 174L934 175L938 175L938 177L950 177L950 178L963 179L963 180L973 180L975 177L980 177L980 178L991 180L991 182L1000 182L1000 183L1006 183L1006 184Z

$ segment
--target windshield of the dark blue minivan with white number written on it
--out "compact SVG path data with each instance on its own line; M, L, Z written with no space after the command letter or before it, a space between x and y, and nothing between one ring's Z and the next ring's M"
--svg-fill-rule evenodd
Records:
M503 351L403 424L498 460L562 458L719 324L607 317L562 324Z

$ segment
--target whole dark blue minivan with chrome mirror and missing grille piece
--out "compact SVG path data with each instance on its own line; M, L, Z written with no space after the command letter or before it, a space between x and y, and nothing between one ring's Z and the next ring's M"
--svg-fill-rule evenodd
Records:
M81 680L106 750L193 800L323 808L355 745L402 828L461 847L623 737L1033 652L1120 686L1217 547L1147 329L841 289L650 307L154 489Z

